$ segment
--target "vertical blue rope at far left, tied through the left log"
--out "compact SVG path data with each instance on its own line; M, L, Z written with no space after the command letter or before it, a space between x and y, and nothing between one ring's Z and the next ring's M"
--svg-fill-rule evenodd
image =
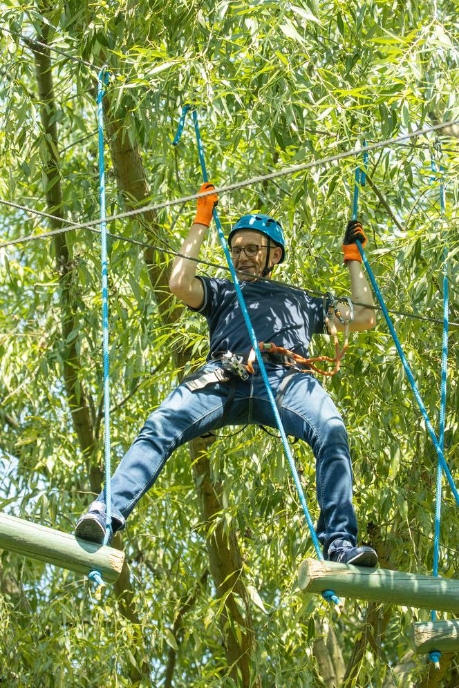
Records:
M106 66L100 70L97 80L97 124L99 128L99 200L100 200L100 238L102 242L102 353L104 359L104 428L105 428L105 485L104 501L106 508L106 531L104 544L111 539L111 456L110 456L110 365L109 365L109 278L106 251L106 204L105 204L105 167L104 167L104 110L102 98L106 84L109 83ZM90 580L103 584L100 571L91 571Z

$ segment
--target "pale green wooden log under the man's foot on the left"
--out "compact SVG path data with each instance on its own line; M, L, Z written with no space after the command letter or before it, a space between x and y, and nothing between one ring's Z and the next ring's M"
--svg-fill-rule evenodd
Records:
M82 575L99 571L107 582L117 580L124 562L124 552L118 549L86 542L55 528L45 528L2 513L0 549Z

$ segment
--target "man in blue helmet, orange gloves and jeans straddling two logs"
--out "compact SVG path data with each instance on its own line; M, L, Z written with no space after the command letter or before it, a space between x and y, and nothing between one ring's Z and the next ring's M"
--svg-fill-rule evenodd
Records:
M203 184L201 191L213 188ZM181 254L198 258L216 203L215 193L198 198L196 218ZM353 220L344 238L351 298L371 306L373 298L361 269L357 238L362 244L366 242L362 224ZM228 243L258 341L273 342L307 357L312 334L324 332L324 300L312 298L301 289L259 280L285 258L281 224L264 215L244 216L229 233ZM258 365L254 364L254 374L245 372L243 363L247 363L251 345L233 283L197 277L196 262L177 257L169 287L191 310L207 319L210 352L207 363L151 413L115 471L111 481L113 531L124 527L135 504L178 446L225 425L276 426ZM341 321L335 315L333 318L337 329L343 331ZM350 329L374 325L373 310L356 306ZM285 432L305 440L315 455L320 506L317 537L324 556L335 562L375 566L375 551L357 547L348 440L335 404L315 376L289 365L285 356L268 352L263 353L263 359ZM105 530L102 493L77 522L75 535L103 542Z

